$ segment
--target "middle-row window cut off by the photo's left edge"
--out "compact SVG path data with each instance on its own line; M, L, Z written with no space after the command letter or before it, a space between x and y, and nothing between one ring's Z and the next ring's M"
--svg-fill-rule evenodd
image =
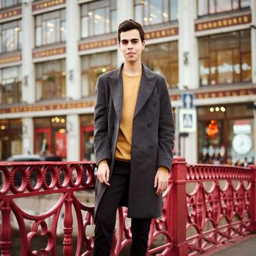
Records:
M0 69L0 103L21 102L21 67Z

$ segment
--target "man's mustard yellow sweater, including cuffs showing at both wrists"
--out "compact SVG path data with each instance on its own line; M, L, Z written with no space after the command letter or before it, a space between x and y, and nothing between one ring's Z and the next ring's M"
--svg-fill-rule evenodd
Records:
M123 110L116 143L115 158L129 162L131 160L133 116L140 88L141 75L127 75L122 72L122 78L124 89ZM103 160L102 162L107 161ZM99 162L99 164L102 162ZM159 166L158 170L168 171L165 166Z

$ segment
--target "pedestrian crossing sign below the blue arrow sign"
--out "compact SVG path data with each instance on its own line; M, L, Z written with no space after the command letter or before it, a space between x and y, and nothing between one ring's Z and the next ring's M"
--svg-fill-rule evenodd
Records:
M196 132L197 115L195 108L179 110L179 132Z

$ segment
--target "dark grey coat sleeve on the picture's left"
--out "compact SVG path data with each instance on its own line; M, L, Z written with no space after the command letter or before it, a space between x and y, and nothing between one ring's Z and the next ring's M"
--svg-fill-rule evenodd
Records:
M94 153L97 165L102 159L111 159L108 141L108 105L105 80L99 77L96 86L96 104L94 107Z

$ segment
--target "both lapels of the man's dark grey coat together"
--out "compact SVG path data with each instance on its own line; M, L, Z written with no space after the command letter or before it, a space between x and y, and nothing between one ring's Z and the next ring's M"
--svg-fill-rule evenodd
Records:
M124 64L113 70L107 77L110 84L110 92L113 98L113 105L116 110L116 115L121 121L122 108L123 108L123 79L122 69ZM138 115L140 110L146 104L148 98L152 94L155 84L157 83L157 75L154 74L148 67L142 64L142 75L140 80L140 89L138 91L138 98L135 106L134 117Z

